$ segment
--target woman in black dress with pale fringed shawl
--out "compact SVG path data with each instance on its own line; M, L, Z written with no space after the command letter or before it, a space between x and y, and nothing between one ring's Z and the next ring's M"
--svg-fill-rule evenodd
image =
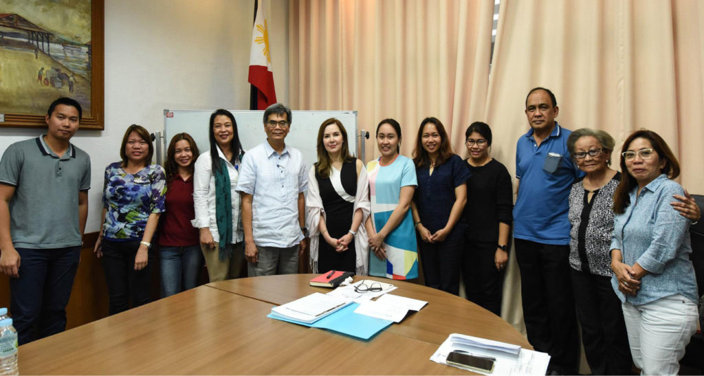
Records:
M318 130L318 162L310 168L306 227L312 272L344 270L367 274L369 180L362 161L351 156L347 131L335 118Z

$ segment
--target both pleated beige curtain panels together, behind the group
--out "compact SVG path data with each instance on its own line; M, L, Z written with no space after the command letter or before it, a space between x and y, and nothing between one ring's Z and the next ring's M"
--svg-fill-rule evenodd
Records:
M301 110L356 110L373 132L392 117L410 156L417 126L436 116L455 153L464 130L494 130L491 155L515 172L532 87L557 96L558 122L623 140L658 132L679 181L704 194L704 3L697 0L501 0L489 75L494 0L289 0L289 98ZM373 139L373 137L372 137ZM367 142L367 160L378 156ZM371 151L375 153L372 155ZM515 182L514 182L515 187ZM524 332L513 255L502 316Z

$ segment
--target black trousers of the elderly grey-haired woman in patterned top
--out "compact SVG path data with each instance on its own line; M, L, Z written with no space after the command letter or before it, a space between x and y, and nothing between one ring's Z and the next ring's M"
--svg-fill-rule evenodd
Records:
M631 348L611 277L570 268L586 361L593 375L631 373Z

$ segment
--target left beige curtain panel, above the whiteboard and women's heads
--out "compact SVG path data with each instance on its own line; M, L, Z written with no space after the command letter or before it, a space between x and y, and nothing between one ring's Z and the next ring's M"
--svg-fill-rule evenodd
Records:
M464 130L484 116L494 0L290 0L289 98L296 110L356 110L379 156L379 120L402 126L410 156L435 116L465 155Z

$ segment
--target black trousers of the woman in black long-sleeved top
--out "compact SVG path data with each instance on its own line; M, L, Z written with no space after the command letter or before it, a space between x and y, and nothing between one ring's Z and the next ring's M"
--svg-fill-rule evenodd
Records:
M503 269L496 269L497 242L465 240L462 275L467 299L501 316Z

